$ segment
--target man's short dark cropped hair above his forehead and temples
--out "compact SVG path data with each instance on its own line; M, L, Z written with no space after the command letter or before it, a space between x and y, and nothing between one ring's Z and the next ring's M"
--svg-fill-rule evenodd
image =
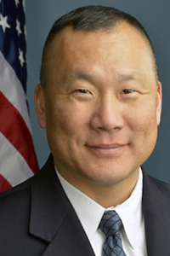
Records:
M42 66L40 71L42 88L46 87L46 67L48 67L49 49L54 38L56 38L60 31L67 26L71 26L73 30L83 30L85 32L96 32L99 30L108 31L119 25L122 21L125 21L136 28L149 44L151 53L153 54L156 81L158 81L155 51L149 35L145 31L144 26L139 23L139 20L135 19L132 15L128 15L127 13L113 7L89 5L72 10L54 22L42 50Z

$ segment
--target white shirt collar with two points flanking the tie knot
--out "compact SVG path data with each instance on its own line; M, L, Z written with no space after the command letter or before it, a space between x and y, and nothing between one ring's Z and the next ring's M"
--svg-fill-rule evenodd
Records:
M96 230L98 230L99 222L105 210L115 210L119 214L120 218L122 218L122 224L126 234L125 236L127 236L131 246L133 248L135 247L135 241L137 239L136 234L138 233L139 228L142 226L143 218L143 174L141 169L139 170L138 182L127 201L124 201L121 205L110 207L108 209L101 207L87 195L83 194L79 189L72 186L71 183L68 183L65 178L59 174L56 168L55 170L59 177L59 181L65 190L65 194L71 201L71 205L75 209L75 212L77 212L77 216L80 219L82 227L85 230L89 240L93 239Z

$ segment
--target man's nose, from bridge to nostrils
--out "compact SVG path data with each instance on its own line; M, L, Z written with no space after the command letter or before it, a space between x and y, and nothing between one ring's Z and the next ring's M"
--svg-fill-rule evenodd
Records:
M124 125L122 103L115 96L103 97L96 103L91 126L94 130L120 130Z

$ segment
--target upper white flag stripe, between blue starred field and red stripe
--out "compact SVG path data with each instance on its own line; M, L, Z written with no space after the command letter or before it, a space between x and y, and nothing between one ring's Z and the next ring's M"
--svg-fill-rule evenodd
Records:
M14 105L22 118L25 120L28 129L31 132L31 124L26 106L26 94L23 90L20 80L14 73L13 68L8 64L8 61L3 57L0 51L0 90L6 96L9 102Z

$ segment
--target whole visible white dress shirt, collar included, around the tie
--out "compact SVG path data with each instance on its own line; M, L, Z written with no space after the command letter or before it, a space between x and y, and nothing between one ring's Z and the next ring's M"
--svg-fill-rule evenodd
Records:
M132 195L121 205L105 209L87 195L68 183L56 170L65 194L71 201L82 223L96 256L102 255L105 234L99 230L99 222L105 210L115 210L122 218L122 247L127 256L147 256L142 212L143 174L140 169L138 182Z

